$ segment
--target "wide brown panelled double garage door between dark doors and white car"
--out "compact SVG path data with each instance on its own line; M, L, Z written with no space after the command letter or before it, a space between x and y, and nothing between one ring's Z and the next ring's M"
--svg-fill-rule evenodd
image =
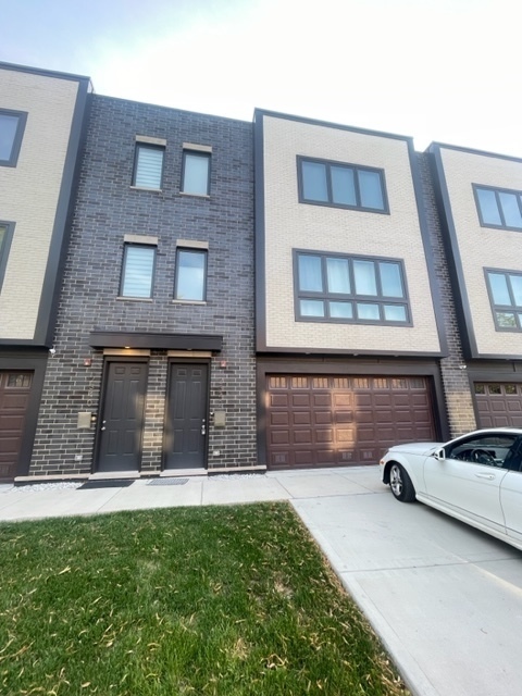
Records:
M390 445L433 440L423 377L268 376L270 469L374 464Z

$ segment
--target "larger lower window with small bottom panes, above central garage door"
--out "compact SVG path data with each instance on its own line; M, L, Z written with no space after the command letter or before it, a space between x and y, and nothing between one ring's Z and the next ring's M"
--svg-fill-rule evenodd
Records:
M298 321L411 324L402 262L295 252Z

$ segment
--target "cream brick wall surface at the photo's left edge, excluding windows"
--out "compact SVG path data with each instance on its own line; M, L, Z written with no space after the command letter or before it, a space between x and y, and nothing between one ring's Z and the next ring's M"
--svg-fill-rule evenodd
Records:
M34 337L77 89L77 82L0 70L0 108L28 113L16 167L0 167L0 220L16 224L0 338Z

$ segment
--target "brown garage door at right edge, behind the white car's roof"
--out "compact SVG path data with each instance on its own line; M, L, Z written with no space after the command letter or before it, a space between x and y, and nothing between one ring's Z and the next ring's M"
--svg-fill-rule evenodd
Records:
M480 427L522 427L522 385L476 382L476 409Z

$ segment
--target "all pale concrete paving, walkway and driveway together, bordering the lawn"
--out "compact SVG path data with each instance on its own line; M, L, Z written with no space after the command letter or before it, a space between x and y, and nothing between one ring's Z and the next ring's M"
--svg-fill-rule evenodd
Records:
M522 552L420 504L397 502L377 467L124 488L0 486L0 521L172 506L290 500L422 696L522 693Z

